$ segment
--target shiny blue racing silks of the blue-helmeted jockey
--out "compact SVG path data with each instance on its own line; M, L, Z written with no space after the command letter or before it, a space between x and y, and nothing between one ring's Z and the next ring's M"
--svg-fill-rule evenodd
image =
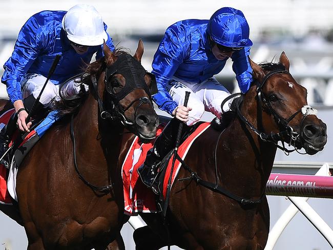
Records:
M200 83L219 73L226 59L218 60L211 49L207 25L209 20L182 20L166 29L152 63L158 93L153 96L158 107L169 114L178 106L165 86L177 77ZM249 47L235 51L231 56L233 71L242 93L252 82L252 68L248 61Z

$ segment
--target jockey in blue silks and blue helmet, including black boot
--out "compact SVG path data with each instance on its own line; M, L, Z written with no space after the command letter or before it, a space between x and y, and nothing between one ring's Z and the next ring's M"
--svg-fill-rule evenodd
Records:
M243 13L233 8L217 10L210 20L182 20L166 29L152 63L158 93L154 101L173 118L156 139L154 148L140 166L143 183L153 188L158 164L175 143L177 121L192 126L204 111L221 117L222 101L230 95L214 75L231 58L238 86L247 92L252 83L249 53L252 41ZM185 91L191 92L188 107L182 106ZM230 101L223 110L229 110Z

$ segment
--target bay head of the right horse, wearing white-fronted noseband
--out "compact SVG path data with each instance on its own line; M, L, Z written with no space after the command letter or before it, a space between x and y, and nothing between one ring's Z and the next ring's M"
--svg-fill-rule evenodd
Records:
M282 52L278 64L259 66L251 61L251 66L257 81L258 117L262 113L266 133L275 133L271 133L272 136L261 133L260 137L284 141L296 150L304 148L309 155L323 150L327 141L326 124L316 116L317 110L307 105L307 91L289 73L285 53ZM271 122L264 122L265 119ZM260 125L258 121L258 127Z

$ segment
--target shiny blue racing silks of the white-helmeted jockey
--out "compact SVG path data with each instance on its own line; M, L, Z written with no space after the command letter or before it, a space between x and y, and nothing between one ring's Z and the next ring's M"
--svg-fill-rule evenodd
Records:
M26 73L48 76L56 55L61 55L50 81L57 85L81 73L82 67L89 64L94 53L96 59L103 56L103 45L91 46L82 55L70 45L61 20L66 11L41 11L31 16L19 31L12 56L4 65L1 81L7 85L11 102L22 99L21 81ZM107 25L104 25L107 30ZM107 46L114 50L112 38L108 34Z

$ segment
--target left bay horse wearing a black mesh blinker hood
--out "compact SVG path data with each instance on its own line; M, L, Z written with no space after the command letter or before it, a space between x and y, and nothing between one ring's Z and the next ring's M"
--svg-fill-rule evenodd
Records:
M105 57L83 75L89 93L65 101L74 102L71 110L58 105L71 118L51 127L19 166L16 192L28 249L124 248L121 142L132 133L154 139L159 119L149 91L154 77L140 64L142 41L134 57L103 49Z

